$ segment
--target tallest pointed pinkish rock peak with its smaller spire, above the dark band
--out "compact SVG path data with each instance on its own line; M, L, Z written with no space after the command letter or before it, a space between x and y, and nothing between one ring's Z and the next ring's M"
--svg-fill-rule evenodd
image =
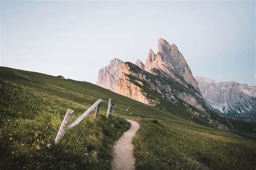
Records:
M191 84L201 95L197 87L198 83L194 79L190 67L188 67L186 60L175 44L170 45L169 42L161 38L158 40L157 54L154 54L152 49L150 49L145 64L145 70L155 74L152 70L153 68L160 69L167 76L172 77L172 79L183 84L185 87Z

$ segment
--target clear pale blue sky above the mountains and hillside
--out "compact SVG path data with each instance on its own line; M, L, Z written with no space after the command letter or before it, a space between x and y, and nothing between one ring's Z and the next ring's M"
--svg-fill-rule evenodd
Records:
M95 83L112 58L145 63L160 37L194 76L256 85L254 1L1 1L1 66Z

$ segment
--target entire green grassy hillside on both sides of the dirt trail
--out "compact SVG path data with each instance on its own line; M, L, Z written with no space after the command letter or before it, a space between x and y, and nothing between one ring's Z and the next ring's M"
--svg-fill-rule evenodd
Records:
M87 82L11 68L0 70L0 166L3 168L110 168L111 146L130 126L124 118L140 124L133 140L137 169L256 168L253 141L217 130L165 100L161 105L149 107ZM14 73L29 76L33 81ZM98 118L91 114L69 129L59 145L46 148L55 138L66 109L75 111L72 118L75 120L98 98L105 102ZM107 119L104 115L108 98L118 108L129 107L131 113L116 110ZM234 126L234 122L229 124ZM240 127L240 133L248 133L253 139L252 127L255 124L247 129Z

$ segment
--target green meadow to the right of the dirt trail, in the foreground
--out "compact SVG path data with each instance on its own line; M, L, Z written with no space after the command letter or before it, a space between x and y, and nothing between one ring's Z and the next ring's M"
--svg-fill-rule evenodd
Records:
M137 169L255 168L255 144L240 137L178 121L139 123Z

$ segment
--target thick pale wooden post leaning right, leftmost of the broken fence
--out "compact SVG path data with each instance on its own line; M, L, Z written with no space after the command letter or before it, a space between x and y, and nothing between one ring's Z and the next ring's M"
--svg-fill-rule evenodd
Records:
M72 117L73 113L74 113L74 111L71 110L71 109L68 109L66 111L66 115L65 115L65 117L64 117L64 119L62 121L62 124L59 127L59 131L58 131L57 136L56 136L56 138L54 140L55 144L57 144L59 142L59 140L64 137L64 134L66 132L66 128L68 127L68 124L69 124L69 122L71 120L71 117Z

